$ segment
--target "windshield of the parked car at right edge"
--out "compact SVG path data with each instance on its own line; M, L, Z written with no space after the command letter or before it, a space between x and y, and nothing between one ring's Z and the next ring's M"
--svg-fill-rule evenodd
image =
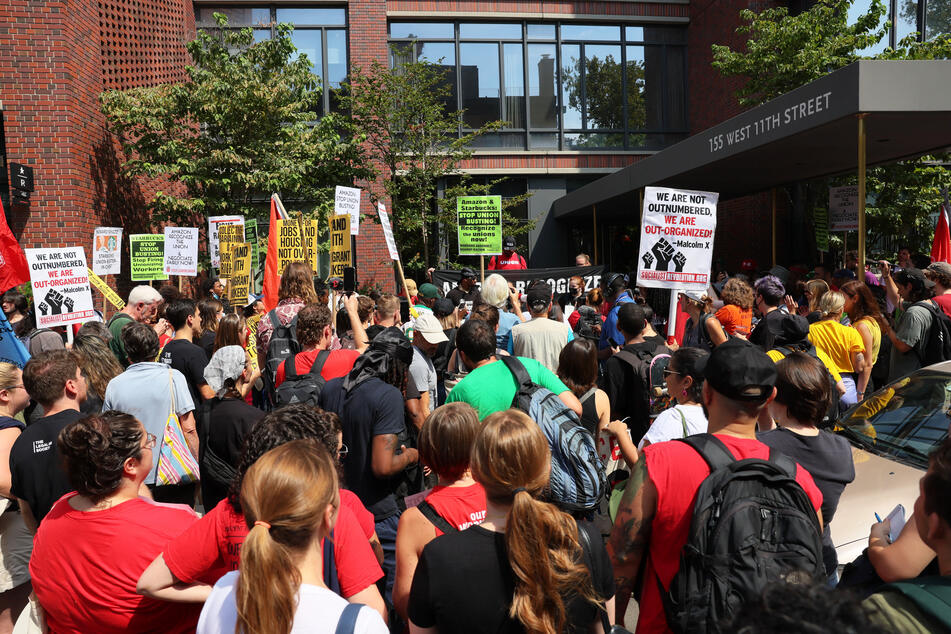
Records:
M951 374L919 370L853 407L835 430L863 449L927 469L949 423Z

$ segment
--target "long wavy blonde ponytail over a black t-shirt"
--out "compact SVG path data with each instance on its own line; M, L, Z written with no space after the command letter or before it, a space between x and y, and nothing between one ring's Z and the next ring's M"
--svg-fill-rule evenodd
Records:
M511 504L505 524L515 574L509 616L529 632L563 632L566 596L594 604L600 599L582 563L578 525L553 504L535 499L548 487L551 453L545 436L523 412L496 412L476 437L470 466L490 501Z

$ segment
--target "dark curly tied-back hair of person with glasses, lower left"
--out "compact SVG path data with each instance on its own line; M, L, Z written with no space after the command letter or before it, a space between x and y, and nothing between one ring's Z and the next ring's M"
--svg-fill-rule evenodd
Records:
M142 423L124 412L70 423L56 439L70 484L93 504L106 499L122 483L125 461L141 456L144 435Z

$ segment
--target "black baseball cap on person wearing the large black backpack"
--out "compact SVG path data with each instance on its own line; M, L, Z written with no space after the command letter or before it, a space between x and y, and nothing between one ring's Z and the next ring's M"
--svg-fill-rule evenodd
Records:
M758 401L776 385L776 364L748 341L729 339L697 362L714 390L737 401Z

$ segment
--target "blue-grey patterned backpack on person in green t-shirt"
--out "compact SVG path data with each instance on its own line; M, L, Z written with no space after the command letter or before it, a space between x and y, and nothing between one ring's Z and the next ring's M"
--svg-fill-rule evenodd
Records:
M532 381L515 357L502 357L517 385L512 407L538 423L551 449L550 501L567 511L598 505L607 488L594 437L557 394Z

